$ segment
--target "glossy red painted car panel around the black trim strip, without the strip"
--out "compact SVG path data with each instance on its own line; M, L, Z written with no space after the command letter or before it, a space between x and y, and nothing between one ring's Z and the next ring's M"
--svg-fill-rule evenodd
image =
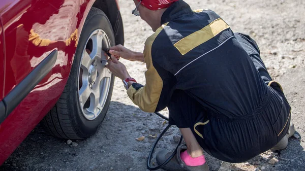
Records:
M91 0L1 1L9 4L1 14L6 41L4 96L53 49L58 49L58 56L51 72L0 125L0 164L51 110L64 90L85 20L83 16L94 3Z

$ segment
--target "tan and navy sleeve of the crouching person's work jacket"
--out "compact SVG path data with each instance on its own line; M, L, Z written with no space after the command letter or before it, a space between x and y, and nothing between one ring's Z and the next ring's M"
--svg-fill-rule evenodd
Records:
M147 67L146 83L144 86L133 83L127 90L127 94L142 111L158 112L168 106L175 89L176 78L152 60L149 41L145 43L144 60Z

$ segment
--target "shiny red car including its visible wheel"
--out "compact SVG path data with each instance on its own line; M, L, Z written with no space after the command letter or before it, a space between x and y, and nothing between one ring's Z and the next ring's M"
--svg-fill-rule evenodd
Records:
M0 165L41 121L85 139L109 107L102 48L124 44L115 0L0 1Z

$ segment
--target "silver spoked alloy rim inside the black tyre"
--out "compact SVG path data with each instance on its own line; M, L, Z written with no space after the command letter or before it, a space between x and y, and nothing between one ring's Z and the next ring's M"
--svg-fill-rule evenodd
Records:
M96 119L102 112L111 84L111 72L106 68L107 58L102 47L109 48L105 31L94 30L82 51L78 73L78 97L84 117Z

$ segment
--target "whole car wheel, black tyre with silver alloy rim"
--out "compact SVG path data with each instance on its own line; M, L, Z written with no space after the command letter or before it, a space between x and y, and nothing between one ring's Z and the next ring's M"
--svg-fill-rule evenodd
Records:
M93 7L85 20L64 92L42 121L47 132L80 140L97 131L107 113L114 83L114 76L105 67L102 47L114 45L107 16Z

